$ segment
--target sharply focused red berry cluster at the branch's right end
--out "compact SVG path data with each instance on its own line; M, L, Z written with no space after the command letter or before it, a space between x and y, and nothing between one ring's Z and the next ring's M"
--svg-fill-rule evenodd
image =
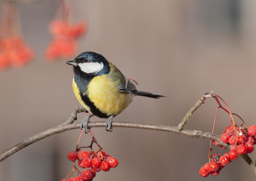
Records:
M225 144L231 145L230 151L222 155L214 154L211 162L206 163L200 168L199 174L203 177L217 176L223 167L229 164L232 160L237 159L239 154L252 153L254 144L256 144L256 125L251 125L248 129L242 127L234 127L228 125L222 133L220 140ZM220 146L218 142L213 141L214 145Z

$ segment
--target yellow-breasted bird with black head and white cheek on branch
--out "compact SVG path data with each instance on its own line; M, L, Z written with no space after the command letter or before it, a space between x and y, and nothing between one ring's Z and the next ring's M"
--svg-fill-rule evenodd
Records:
M136 95L156 99L165 97L137 90L130 78L96 52L83 52L66 63L74 69L74 95L89 112L81 124L85 133L90 131L88 123L92 116L107 119L106 130L112 132L113 118L123 112Z

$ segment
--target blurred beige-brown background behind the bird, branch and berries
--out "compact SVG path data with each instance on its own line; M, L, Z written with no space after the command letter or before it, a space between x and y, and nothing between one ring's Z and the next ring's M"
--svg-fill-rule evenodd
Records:
M58 4L18 4L22 31L36 59L22 69L0 72L0 151L65 122L79 105L71 87L72 68L66 60L48 63L43 57L51 40L48 23ZM232 112L255 124L255 1L77 0L73 5L75 18L89 20L79 53L103 54L138 81L139 90L167 95L160 100L135 97L115 121L178 125L205 92L214 90ZM215 112L215 101L206 100L185 128L211 132ZM84 117L80 113L78 121ZM228 115L220 112L216 133L228 124ZM255 180L241 157L217 177L200 176L199 168L208 161L208 140L124 128L92 132L106 153L120 161L94 180ZM0 163L0 180L65 178L72 168L66 155L75 149L79 134L54 135L13 154ZM83 135L81 144L90 141ZM255 153L250 155L256 159Z

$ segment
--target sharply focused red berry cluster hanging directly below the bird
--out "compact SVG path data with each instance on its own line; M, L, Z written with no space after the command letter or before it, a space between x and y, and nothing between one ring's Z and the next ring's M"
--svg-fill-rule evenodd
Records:
M91 132L90 132L91 133ZM92 133L91 133L92 134ZM80 138L79 138L80 140ZM78 141L79 142L79 141ZM97 144L98 151L92 150L92 144ZM82 148L90 148L89 151L82 150ZM112 157L110 154L106 154L105 151L98 145L94 136L92 136L92 143L89 147L80 147L76 148L75 151L71 151L68 153L68 159L73 162L73 169L69 173L72 173L72 177L66 176L66 179L62 181L84 181L84 180L92 180L96 173L99 171L109 171L110 168L115 168L118 165L118 160L115 157ZM84 170L81 172L75 167L75 161L77 160L77 165ZM78 176L74 177L74 170L77 171ZM68 179L69 177L69 179Z

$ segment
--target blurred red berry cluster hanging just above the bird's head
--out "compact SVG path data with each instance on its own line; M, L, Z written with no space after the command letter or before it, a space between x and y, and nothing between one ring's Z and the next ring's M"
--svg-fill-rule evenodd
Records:
M62 18L53 20L49 25L53 40L46 48L45 57L50 61L74 56L77 51L77 39L85 34L88 28L86 22L78 22L77 24L69 22L69 5L66 1L62 1L60 5L62 5L63 11L62 16L60 16Z

